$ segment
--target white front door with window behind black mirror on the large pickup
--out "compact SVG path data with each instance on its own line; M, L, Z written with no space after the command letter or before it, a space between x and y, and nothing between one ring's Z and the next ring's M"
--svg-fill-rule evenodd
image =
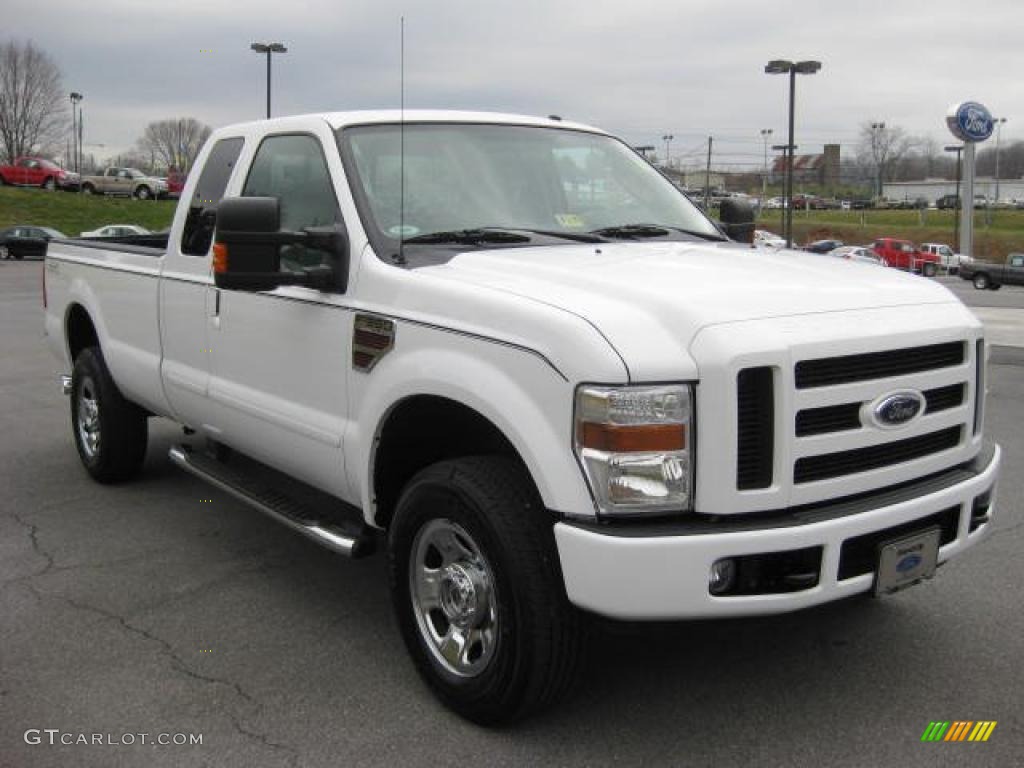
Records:
M333 181L342 173L326 124L271 134L256 147L241 195L278 198L283 229L343 225ZM331 260L315 249L282 248L282 269ZM345 497L342 435L352 333L345 297L294 286L218 293L210 399L225 442Z

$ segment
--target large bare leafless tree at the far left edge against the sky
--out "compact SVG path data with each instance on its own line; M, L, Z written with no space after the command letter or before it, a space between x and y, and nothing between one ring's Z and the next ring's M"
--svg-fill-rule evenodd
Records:
M0 43L0 153L8 163L59 143L63 106L60 71L49 54L31 41Z

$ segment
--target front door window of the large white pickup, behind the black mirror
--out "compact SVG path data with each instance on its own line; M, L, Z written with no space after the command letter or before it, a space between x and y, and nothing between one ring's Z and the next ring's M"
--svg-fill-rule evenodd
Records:
M263 139L242 197L278 198L282 229L300 230L341 222L327 160L319 141L312 136ZM285 246L281 250L281 266L286 270L328 264L332 260L332 254L302 245Z

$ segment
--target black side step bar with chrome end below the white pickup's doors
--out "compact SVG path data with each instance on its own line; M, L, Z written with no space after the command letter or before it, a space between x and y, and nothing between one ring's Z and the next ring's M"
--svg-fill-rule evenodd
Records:
M325 521L307 505L263 485L255 478L233 471L216 459L196 453L187 445L175 445L169 455L171 461L186 472L255 507L329 550L356 558L369 555L374 549L373 535L366 526L356 530L351 529L354 525L343 527L334 521Z

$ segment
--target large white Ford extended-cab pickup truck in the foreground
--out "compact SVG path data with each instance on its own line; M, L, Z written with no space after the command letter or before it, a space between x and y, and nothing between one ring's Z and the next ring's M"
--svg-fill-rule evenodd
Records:
M417 668L481 723L556 700L588 613L931 578L992 527L981 324L723 218L558 119L222 128L166 244L49 246L78 453L124 480L171 419L184 469L338 552L382 544Z

